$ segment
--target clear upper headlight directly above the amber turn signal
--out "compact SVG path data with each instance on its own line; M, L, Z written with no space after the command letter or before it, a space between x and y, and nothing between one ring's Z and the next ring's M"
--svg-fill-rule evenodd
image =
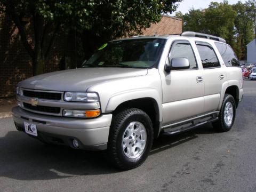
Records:
M99 102L99 96L97 93L66 92L64 94L64 100L78 102Z

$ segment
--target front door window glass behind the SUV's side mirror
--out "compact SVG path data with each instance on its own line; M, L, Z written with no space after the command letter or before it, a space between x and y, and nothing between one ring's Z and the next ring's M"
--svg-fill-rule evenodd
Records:
M192 47L189 43L175 43L169 54L169 61L173 58L187 58L190 69L197 69L196 59Z

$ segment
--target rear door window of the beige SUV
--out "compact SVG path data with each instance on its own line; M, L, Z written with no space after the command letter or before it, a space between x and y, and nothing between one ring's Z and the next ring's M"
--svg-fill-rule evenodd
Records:
M210 44L197 42L196 47L201 57L203 68L220 67L217 55Z

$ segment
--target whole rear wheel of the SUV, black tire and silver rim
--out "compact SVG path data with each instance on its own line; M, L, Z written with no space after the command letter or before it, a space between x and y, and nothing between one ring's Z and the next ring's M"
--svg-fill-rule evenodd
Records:
M213 127L220 132L226 132L231 129L236 116L235 99L230 94L225 94L217 122L212 123Z

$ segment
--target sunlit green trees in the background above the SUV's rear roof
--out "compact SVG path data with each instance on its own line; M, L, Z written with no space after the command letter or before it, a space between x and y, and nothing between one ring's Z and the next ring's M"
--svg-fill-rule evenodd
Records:
M203 10L191 9L188 13L177 13L183 19L183 30L191 30L225 38L233 46L238 58L246 60L246 45L254 38L254 21L246 10L254 9L253 1L230 5L211 2Z

